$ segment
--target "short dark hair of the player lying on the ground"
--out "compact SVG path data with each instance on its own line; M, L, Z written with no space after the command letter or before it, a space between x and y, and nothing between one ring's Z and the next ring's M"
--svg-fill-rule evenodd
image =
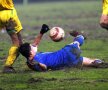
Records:
M30 57L30 50L30 43L24 43L19 47L19 52L27 59L29 59Z

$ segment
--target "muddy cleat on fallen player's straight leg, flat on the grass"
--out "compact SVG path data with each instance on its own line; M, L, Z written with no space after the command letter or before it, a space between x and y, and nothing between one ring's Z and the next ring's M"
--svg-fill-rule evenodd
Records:
M108 68L108 63L97 59L92 63L92 66L95 68Z

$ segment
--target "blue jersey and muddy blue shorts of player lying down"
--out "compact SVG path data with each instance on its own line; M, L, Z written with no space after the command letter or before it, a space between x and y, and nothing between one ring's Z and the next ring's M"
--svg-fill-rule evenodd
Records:
M47 68L59 69L62 67L73 67L82 64L83 57L77 43L66 45L55 52L36 53L34 61L45 64Z

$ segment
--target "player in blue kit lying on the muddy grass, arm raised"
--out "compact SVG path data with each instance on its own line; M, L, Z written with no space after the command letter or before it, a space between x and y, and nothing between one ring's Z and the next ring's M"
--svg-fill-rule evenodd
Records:
M37 46L44 33L49 30L47 25L43 25L40 34L32 44L24 43L19 47L19 52L26 57L27 65L35 71L56 70L64 67L94 66L103 63L99 59L90 59L80 56L80 46L84 43L84 37L79 33L71 33L74 36L72 43L54 52L37 52Z

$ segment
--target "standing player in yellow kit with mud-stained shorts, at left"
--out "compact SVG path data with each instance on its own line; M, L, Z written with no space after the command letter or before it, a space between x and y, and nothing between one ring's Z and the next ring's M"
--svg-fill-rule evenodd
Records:
M5 28L12 40L12 46L9 49L9 55L3 69L4 73L15 72L12 67L18 56L18 47L22 44L20 31L22 25L14 8L13 0L0 0L0 30Z

